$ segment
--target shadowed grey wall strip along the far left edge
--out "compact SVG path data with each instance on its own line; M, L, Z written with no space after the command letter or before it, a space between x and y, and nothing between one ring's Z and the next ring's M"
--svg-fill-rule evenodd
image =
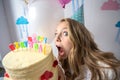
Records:
M2 57L9 51L8 44L10 42L7 25L7 19L4 12L3 2L0 0L0 61ZM0 64L1 67L1 64Z

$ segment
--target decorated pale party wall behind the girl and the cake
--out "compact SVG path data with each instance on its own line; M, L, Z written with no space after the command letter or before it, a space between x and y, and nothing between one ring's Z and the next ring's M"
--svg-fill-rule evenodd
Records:
M28 23L17 24L21 17ZM10 43L34 33L47 37L57 56L53 41L55 27L66 17L83 18L98 47L120 59L119 0L0 0L0 61L10 51ZM25 27L26 32L20 32L19 27Z

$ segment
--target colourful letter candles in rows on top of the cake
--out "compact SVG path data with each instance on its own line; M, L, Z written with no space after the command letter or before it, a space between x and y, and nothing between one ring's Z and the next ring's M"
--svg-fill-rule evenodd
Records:
M47 43L46 37L33 35L29 36L27 38L27 41L10 43L9 48L11 51L18 49L20 50L31 49L46 54L46 43Z

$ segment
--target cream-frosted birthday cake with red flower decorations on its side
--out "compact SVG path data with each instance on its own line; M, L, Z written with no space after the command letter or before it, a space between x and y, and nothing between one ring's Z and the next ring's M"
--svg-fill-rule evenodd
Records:
M37 42L33 48L19 44L21 48L11 45L12 51L2 60L4 80L58 80L58 62L49 44Z

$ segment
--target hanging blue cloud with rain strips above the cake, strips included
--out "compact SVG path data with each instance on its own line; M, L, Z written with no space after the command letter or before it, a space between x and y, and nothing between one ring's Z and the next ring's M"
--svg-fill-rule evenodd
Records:
M29 35L28 32L28 9L29 9L29 0L23 0L23 14L22 16L18 17L18 19L16 20L16 25L17 25L17 29L19 32L19 36L20 36L20 41L25 41Z

